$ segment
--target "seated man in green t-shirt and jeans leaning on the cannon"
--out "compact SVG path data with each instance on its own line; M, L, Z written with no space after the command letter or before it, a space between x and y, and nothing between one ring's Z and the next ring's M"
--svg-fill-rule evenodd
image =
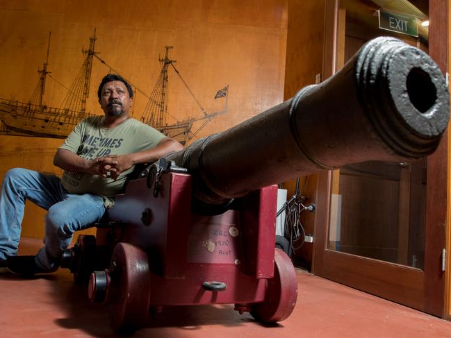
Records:
M183 149L130 117L133 90L121 76L105 76L97 95L104 116L81 121L56 151L54 164L64 169L61 178L20 168L3 178L0 270L24 276L56 271L74 232L100 221L134 164ZM17 256L26 199L48 210L44 247L35 256Z

